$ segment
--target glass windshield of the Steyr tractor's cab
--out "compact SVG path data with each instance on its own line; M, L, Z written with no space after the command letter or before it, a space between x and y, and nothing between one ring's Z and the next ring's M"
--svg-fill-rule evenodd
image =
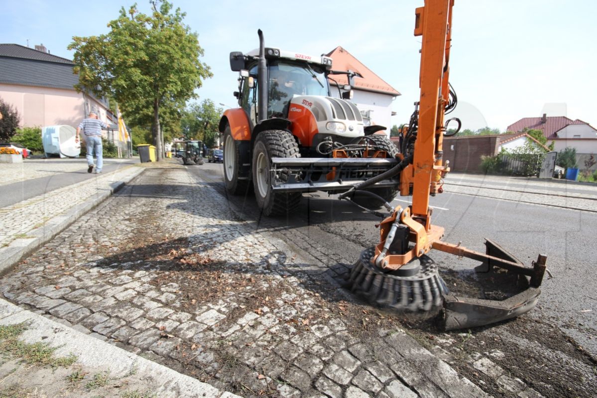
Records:
M330 95L324 67L300 61L273 61L269 65L269 118L285 118L294 95Z

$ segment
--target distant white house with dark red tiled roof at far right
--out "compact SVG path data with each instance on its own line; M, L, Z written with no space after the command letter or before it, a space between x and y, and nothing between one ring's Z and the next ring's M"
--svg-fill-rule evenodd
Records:
M509 125L507 131L522 132L525 129L543 131L548 143L554 141L557 151L573 147L577 153L597 153L597 129L580 119L547 116L544 113L540 118L522 118Z

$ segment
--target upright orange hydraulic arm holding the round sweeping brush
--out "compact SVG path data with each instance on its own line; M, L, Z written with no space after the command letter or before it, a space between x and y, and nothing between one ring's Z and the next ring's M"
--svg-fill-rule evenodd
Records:
M413 202L408 208L396 208L390 217L380 224L381 242L376 247L376 263L386 269L398 269L413 258L429 252L433 242L444 235L444 229L431 224L429 196L435 195L442 176L449 171L442 162L442 139L445 132L444 111L450 100L448 75L450 67L451 21L454 0L425 0L424 7L416 9L415 36L422 36L421 68L419 86L420 101L417 104L404 148L413 156L412 165L401 172L401 193L412 192ZM408 134L411 134L410 136ZM410 144L413 140L414 145ZM404 149L403 148L403 149ZM410 241L414 248L405 254L387 255L384 249L392 225L396 219L410 229Z

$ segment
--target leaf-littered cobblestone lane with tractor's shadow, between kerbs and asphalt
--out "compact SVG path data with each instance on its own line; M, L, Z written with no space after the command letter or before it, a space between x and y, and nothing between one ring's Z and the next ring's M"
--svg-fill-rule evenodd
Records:
M0 290L242 396L487 396L391 315L351 301L333 277L346 265L333 268L255 232L184 169L147 169ZM537 396L498 376L504 388Z

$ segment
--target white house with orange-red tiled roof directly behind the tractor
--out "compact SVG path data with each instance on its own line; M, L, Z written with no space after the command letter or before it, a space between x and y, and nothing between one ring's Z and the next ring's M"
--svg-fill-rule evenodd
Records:
M392 101L400 95L400 92L340 46L330 51L327 56L332 58L334 70L352 70L363 76L355 77L352 101L361 110L366 125L368 123L384 126L389 135L392 127ZM330 76L332 96L340 97L340 92L344 91L343 87L347 84L346 75Z

